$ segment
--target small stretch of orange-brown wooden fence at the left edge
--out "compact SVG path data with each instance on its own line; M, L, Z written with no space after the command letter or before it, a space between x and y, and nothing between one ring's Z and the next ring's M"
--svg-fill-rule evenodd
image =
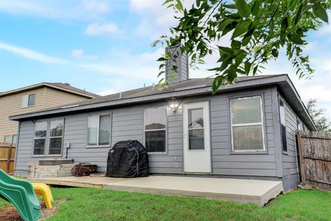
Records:
M14 173L15 144L0 143L0 169L6 173Z

